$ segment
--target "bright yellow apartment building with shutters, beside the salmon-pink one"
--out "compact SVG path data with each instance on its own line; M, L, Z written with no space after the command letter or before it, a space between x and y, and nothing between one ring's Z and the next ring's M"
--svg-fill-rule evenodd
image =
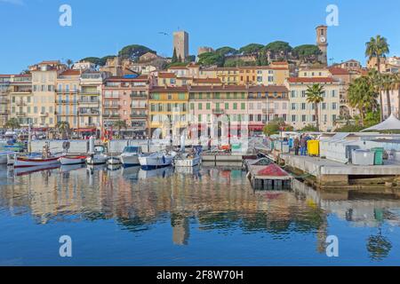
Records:
M151 88L148 115L152 137L179 136L188 127L188 86Z

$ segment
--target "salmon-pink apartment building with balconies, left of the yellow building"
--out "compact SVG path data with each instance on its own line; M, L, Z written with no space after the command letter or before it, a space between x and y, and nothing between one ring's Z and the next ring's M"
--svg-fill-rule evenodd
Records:
M127 128L122 130L132 137L148 135L148 87L147 75L138 77L109 77L103 86L103 125L112 128L121 120Z

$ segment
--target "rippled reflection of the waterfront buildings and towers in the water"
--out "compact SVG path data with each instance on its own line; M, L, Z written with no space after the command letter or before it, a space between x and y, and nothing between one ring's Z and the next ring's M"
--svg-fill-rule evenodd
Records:
M329 214L355 226L400 225L396 200L321 193L299 181L293 181L292 191L254 192L241 170L141 172L139 167L110 171L78 166L18 175L8 172L1 178L0 207L12 214L29 212L40 224L62 222L63 217L115 219L132 233L170 223L176 245L189 244L192 219L196 230L203 232L240 229L280 240L291 233L315 234L320 253L325 251ZM388 238L378 233L370 239L371 257L385 257L391 248Z

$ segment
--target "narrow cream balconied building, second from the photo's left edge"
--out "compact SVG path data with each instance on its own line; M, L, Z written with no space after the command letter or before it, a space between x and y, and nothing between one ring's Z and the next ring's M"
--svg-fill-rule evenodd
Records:
M9 99L9 119L16 118L21 127L28 127L30 123L34 122L35 112L37 114L39 109L34 104L30 74L12 75Z

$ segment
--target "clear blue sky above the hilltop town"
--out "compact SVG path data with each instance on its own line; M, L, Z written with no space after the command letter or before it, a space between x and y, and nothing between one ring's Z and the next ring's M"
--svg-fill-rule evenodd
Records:
M60 27L61 4L72 7L72 27ZM124 45L147 45L172 55L172 36L185 29L189 48L284 40L315 43L328 4L339 7L339 27L329 29L328 57L359 59L371 36L388 38L390 54L400 55L398 0L0 0L0 74L20 73L43 59L115 54Z

